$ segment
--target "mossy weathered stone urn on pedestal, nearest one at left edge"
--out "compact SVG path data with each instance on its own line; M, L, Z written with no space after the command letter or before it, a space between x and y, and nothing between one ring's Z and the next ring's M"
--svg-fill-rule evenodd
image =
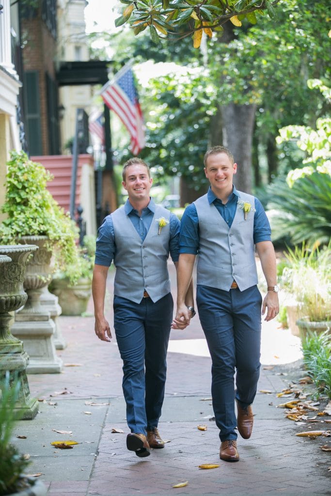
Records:
M33 419L38 413L38 401L30 396L26 368L29 356L23 343L10 332L12 316L9 312L22 307L27 300L23 289L26 264L31 253L38 249L35 245L0 246L0 255L11 261L0 263L0 376L9 371L10 380L20 380L22 387L15 409L22 419Z

